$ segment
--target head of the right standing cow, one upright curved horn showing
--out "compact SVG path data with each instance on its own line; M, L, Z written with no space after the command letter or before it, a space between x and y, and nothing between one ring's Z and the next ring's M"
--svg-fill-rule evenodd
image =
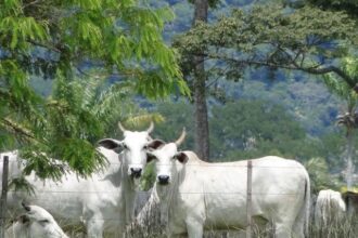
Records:
M186 138L186 129L176 142L165 144L150 153L150 158L155 161L156 183L159 185L168 185L175 173L175 163L179 161L186 163L188 157L184 153L178 151L179 145Z

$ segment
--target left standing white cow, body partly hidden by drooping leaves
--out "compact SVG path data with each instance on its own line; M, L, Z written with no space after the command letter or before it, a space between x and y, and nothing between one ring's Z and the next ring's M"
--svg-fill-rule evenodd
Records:
M105 138L99 142L103 146L99 151L108 160L103 172L87 180L69 173L61 183L30 175L27 180L34 185L36 195L10 193L10 206L16 208L24 199L41 204L55 217L68 219L71 223L84 222L88 237L101 238L103 230L123 233L133 219L136 189L146 163L146 150L155 148L158 141L149 135L153 123L142 132L127 131L120 123L119 128L124 131L123 141ZM123 149L119 156L113 151L118 148Z

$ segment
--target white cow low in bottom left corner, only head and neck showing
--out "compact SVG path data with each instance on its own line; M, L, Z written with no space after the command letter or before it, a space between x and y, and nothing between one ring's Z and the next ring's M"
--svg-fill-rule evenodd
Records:
M7 229L5 238L68 238L43 208L24 203L23 207L25 214Z

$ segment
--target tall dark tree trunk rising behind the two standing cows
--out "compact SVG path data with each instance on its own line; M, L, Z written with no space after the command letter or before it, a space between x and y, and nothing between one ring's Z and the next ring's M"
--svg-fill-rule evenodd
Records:
M208 2L207 0L195 0L195 12L193 26L197 22L207 22ZM194 56L194 125L195 125L195 150L203 160L209 159L209 131L206 105L206 74L204 57Z

